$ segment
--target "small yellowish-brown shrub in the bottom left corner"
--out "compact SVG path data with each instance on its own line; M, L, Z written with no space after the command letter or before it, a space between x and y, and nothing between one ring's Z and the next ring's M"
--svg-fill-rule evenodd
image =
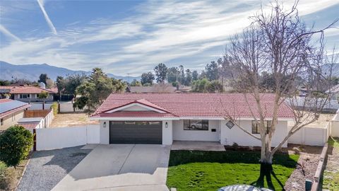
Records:
M17 182L15 168L8 167L0 171L0 190L14 190Z

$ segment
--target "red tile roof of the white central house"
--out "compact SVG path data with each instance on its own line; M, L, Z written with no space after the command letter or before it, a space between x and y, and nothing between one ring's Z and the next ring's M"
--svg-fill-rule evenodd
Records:
M148 104L157 105L178 117L253 117L250 110L258 116L254 98L248 95L247 104L242 93L112 93L93 117L113 117L116 115L114 112L105 112L137 100L145 100ZM261 105L267 118L273 117L273 101L274 94L261 95ZM133 113L133 116L137 116L137 113ZM278 117L292 118L294 114L283 103L280 105Z

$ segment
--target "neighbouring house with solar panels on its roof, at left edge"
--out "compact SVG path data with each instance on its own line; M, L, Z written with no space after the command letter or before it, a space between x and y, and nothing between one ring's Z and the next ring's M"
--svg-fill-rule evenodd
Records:
M29 107L28 103L18 100L0 99L0 130L16 125Z

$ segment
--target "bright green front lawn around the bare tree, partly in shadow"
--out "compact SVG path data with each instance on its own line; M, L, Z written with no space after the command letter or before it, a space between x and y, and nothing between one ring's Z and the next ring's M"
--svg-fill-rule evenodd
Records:
M256 184L260 172L258 152L171 151L167 186L178 191L218 190L234 184ZM299 156L275 154L273 170L282 185L295 169ZM283 190L273 176L275 190ZM265 187L267 183L265 181Z

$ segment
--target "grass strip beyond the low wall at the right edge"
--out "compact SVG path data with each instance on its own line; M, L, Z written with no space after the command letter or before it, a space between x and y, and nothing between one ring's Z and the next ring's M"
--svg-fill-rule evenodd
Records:
M337 156L334 160L337 160L339 156L339 137L330 137L328 139L328 149L332 149L333 154ZM339 158L338 158L339 160ZM334 161L327 161L326 170L323 171L323 189L326 190L339 190L339 167L334 166ZM336 169L335 169L336 168Z

